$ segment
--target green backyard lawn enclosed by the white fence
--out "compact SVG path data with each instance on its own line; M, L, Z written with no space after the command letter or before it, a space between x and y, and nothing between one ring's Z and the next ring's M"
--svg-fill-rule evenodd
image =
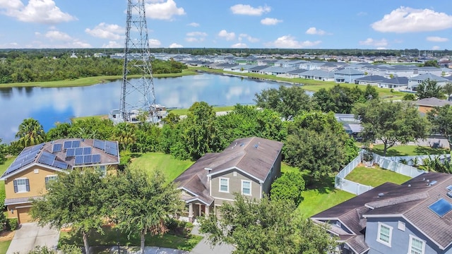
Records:
M356 167L350 174L345 176L345 179L376 187L386 182L397 184L405 183L405 181L408 181L411 178L410 176L398 174L387 169L381 169L380 167Z

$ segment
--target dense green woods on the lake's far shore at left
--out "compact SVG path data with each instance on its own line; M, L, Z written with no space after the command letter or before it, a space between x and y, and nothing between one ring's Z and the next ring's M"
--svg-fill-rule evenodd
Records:
M73 80L100 75L122 75L122 59L109 57L78 57L69 54L44 56L42 54L6 54L0 57L0 84L37 81ZM153 73L181 73L186 68L177 61L153 60ZM129 75L140 73L129 73Z

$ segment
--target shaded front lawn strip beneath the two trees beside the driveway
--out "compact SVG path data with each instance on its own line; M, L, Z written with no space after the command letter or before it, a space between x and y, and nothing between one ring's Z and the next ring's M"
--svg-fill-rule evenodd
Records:
M92 232L90 236L88 236L90 246L117 246L118 242L120 246L140 246L139 234L131 234L129 238L128 234L121 233L121 231L117 231L116 229L112 229L108 226L105 226L103 229L104 234L102 235L97 232ZM183 237L172 234L157 236L150 236L150 234L146 234L145 246L175 248L189 251L194 248L194 246L196 246L202 238L202 236L194 235ZM77 246L83 246L83 239L80 234L72 234L71 232L61 231L59 235L59 245L62 244L75 244Z

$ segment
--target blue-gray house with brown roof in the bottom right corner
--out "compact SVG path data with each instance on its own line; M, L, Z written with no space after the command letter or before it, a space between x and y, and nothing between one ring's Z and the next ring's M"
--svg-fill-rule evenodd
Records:
M383 183L314 215L343 254L452 253L452 175L428 172Z

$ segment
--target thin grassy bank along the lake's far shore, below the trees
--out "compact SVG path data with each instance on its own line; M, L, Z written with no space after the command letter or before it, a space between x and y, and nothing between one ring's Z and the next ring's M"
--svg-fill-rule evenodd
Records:
M183 75L196 75L193 70L184 70L182 73L165 73L154 74L154 78L175 78L182 77ZM129 75L129 78L140 78L141 75ZM30 83L8 83L0 84L0 87L80 87L87 85L95 85L99 83L108 83L112 80L121 79L122 75L105 75L88 78L78 78L76 80L59 80L59 81L47 81L47 82L30 82Z

